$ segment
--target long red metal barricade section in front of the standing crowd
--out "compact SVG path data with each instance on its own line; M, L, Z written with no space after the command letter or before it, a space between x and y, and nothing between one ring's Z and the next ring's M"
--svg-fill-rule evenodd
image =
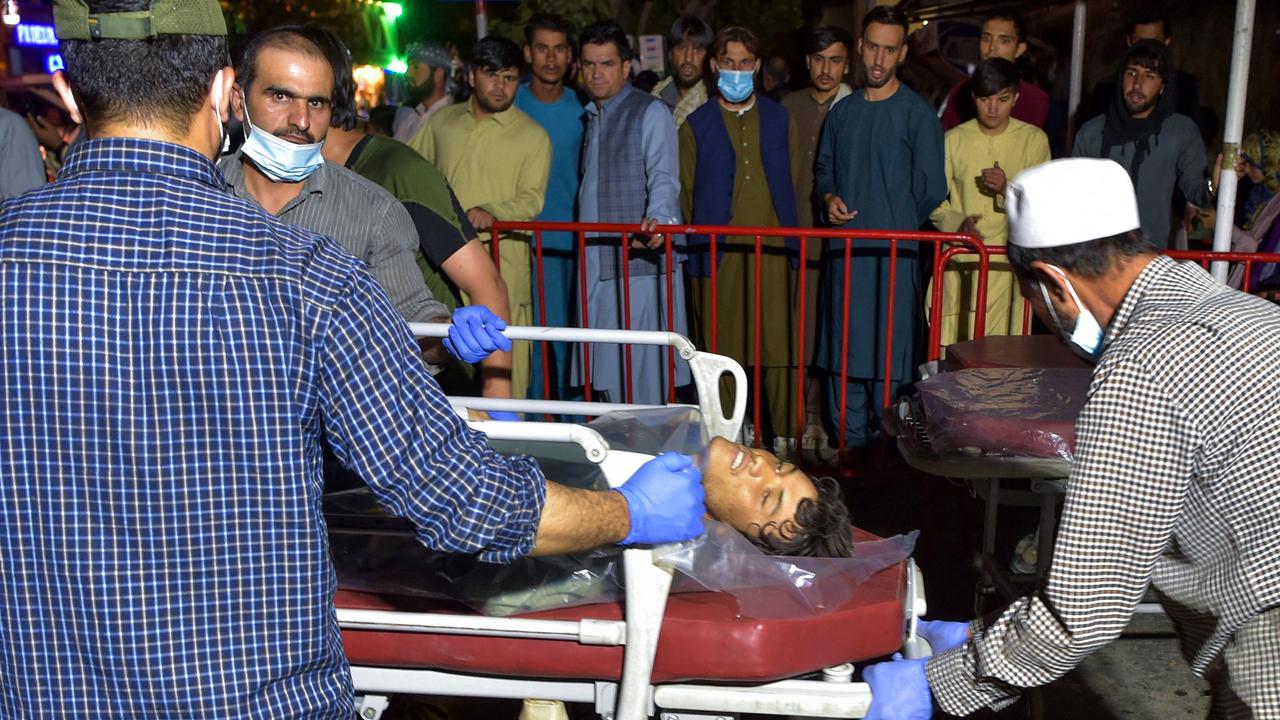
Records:
M545 232L570 232L575 234L575 247L577 255L577 296L579 296L579 313L581 315L581 325L584 328L596 327L593 324L593 309L588 302L581 299L588 297L590 278L586 272L586 249L588 238L593 242L599 243L603 238L609 238L616 236L618 247L621 249L622 256L622 307L621 310L621 325L623 329L632 329L631 325L631 292L630 292L630 270L628 260L631 252L631 241L635 237L645 236L637 224L617 224L617 223L495 223L492 228L492 251L494 263L499 263L499 234L504 232L518 232L522 234L531 236L532 240L532 255L535 261L541 266L543 263L543 233ZM762 325L762 259L764 251L764 238L796 238L799 242L799 258L804 259L800 272L797 273L797 323L796 323L796 350L800 356L800 361L796 368L796 430L797 434L805 427L805 378L808 375L808 365L812 359L804 357L804 347L806 341L806 318L809 313L815 313L817 307L808 307L808 254L809 243L814 241L835 241L836 245L844 245L844 307L841 323L841 374L840 377L847 377L849 372L849 351L850 351L850 302L851 302L851 287L855 282L852 277L850 263L855 252L861 252L867 250L869 245L877 243L877 247L883 249L883 245L888 245L888 286L884 292L887 302L884 304L884 327L893 328L895 320L895 293L897 290L897 283L900 278L897 277L897 260L902 258L902 250L900 243L919 243L919 252L916 256L922 263L932 259L933 265L933 281L934 287L941 287L941 273L942 266L946 260L955 256L956 254L977 255L979 258L979 282L978 282L978 302L975 313L975 334L982 336L982 329L986 322L986 273L987 273L987 247L984 247L977 238L960 233L936 233L936 232L906 232L906 231L841 231L841 229L814 229L814 228L764 228L764 227L739 227L739 225L659 225L653 229L653 234L660 234L663 240L664 258L666 263L666 319L667 329L669 332L676 331L675 323L675 263L677 259L677 251L672 241L673 234L682 236L705 236L709 240L705 251L709 258L717 258L718 246L721 242L727 242L728 237L745 237L754 238L754 245L751 250L755 258L755 277L754 277L754 304L750 309L751 319L751 341L750 352L751 357L748 365L753 369L751 375L751 397L756 401L754 402L753 420L756 428L760 428L762 420L762 352L763 352L763 334L764 329ZM607 240L604 242L608 242ZM946 246L946 247L945 247ZM700 251L703 251L700 249ZM719 293L718 293L718 263L709 263L709 287L710 287L710 307L709 307L709 327L719 327ZM547 288L543 282L543 274L535 273L538 277L538 284L534 291L538 293L538 306L539 306L539 323L545 323L545 297ZM941 316L941 295L934 292L934 300L928 311L928 318L932 320L932 325L936 328L937 319ZM658 328L644 328L644 329L658 329ZM713 329L710 333L710 347L705 348L716 352L718 348L716 346L718 333ZM888 382L893 377L893 333L886 332L884 341L884 356L883 356L883 404L888 405L892 402L892 383ZM547 343L540 343L538 352L541 356L543 365L543 395L545 398L550 397L552 393L552 378L549 366L549 348ZM581 360L581 378L584 380L584 389L586 397L591 397L591 357L590 347L584 346L580 351ZM937 342L936 329L931 331L931 340L927 347L927 356L929 360L937 359L940 355L940 347ZM667 370L668 378L675 378L676 370L675 351L668 350L667 355ZM631 373L631 351L630 347L623 350L623 378L626 383L623 400L630 402L634 395L634 378ZM666 396L668 401L675 401L676 388L673 382L668 382L666 389ZM847 419L847 398L842 395L841 407L840 407L840 428L845 427L845 420ZM760 443L762 432L755 433L755 445ZM838 446L842 448L845 445L844 434L840 433Z

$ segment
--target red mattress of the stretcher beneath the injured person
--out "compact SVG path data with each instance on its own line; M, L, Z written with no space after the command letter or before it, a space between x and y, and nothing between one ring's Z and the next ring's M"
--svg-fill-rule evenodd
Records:
M879 539L858 529L854 537ZM906 562L900 562L873 575L842 607L823 615L756 620L739 616L736 601L726 593L672 594L658 639L653 682L769 682L882 657L902 644L905 592ZM456 606L424 597L344 589L338 591L334 601L344 609L457 611ZM622 606L586 605L521 618L621 620ZM544 679L617 680L622 675L622 647L349 629L342 637L352 665Z

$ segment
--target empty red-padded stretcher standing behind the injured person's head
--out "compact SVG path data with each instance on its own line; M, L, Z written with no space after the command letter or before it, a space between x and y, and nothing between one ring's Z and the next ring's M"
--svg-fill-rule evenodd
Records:
M909 465L964 480L986 503L979 611L1005 579L995 570L1001 506L1039 509L1037 575L1048 568L1091 377L1092 368L1052 336L960 342L947 347L943 372L884 416Z

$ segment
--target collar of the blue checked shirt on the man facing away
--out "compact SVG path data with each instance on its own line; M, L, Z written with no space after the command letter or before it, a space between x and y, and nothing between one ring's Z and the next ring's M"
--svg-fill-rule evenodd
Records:
M81 173L147 173L189 178L223 188L223 174L209 158L184 145L136 137L104 137L72 146L59 178Z

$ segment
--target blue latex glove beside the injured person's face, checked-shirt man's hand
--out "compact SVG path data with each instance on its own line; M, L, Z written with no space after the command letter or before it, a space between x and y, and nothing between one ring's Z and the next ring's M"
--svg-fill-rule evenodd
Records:
M627 498L631 532L618 544L680 542L703 534L707 495L694 459L664 452L617 488Z

